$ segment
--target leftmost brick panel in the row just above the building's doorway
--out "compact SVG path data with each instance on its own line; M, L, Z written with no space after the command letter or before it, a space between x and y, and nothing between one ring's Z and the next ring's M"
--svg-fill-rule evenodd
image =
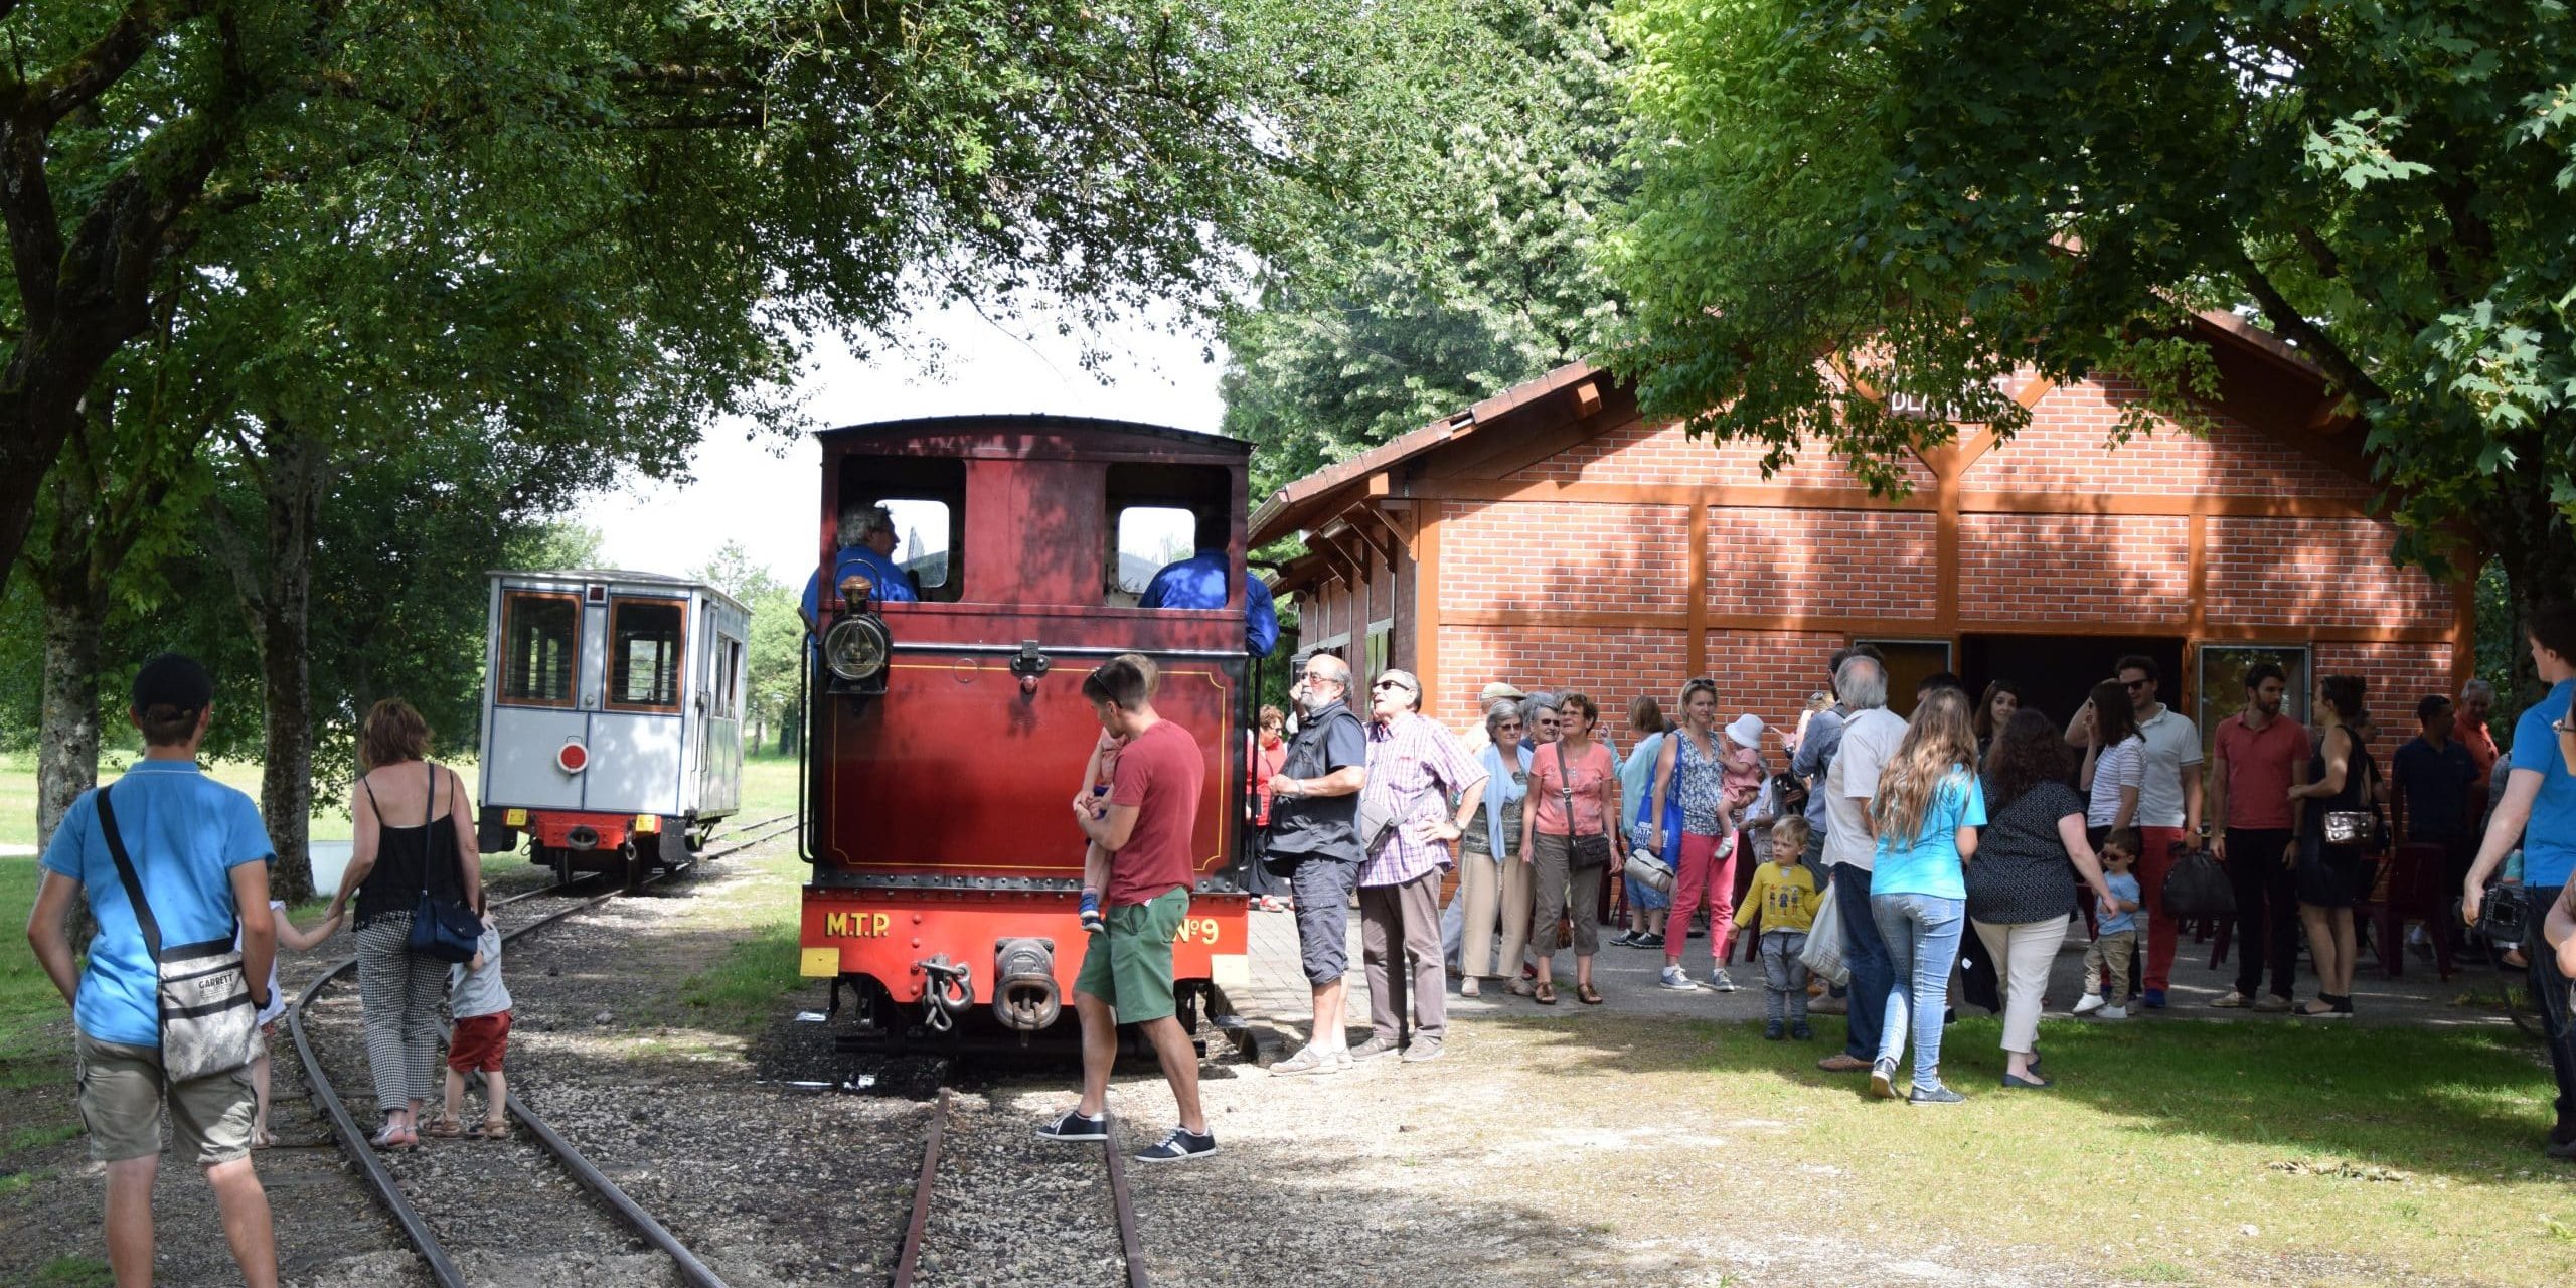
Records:
M1445 502L1440 513L1443 613L1680 613L1690 605L1690 510L1682 505Z

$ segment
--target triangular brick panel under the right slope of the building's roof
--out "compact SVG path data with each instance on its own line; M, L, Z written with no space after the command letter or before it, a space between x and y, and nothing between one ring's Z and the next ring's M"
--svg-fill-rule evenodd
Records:
M1960 484L1968 492L2370 497L2370 484L2233 417L2218 417L2208 438L2164 422L2110 448L2120 407L2136 397L2133 384L2115 379L2050 389L2030 410L2030 428L1968 466Z

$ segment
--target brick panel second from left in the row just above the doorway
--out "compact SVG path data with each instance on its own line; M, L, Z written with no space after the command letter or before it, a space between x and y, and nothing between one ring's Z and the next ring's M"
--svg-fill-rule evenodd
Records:
M1708 611L1929 618L1935 526L1924 513L1716 505Z

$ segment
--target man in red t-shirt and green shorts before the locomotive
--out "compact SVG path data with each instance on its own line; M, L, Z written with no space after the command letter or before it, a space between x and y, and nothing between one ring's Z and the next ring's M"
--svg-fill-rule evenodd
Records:
M1038 1128L1051 1141L1105 1141L1110 1133L1110 1061L1118 1025L1136 1025L1162 1059L1162 1077L1180 1103L1180 1126L1136 1162L1180 1162L1216 1154L1208 1115L1198 1108L1198 1051L1172 1018L1172 935L1190 914L1190 832L1208 762L1188 729L1154 714L1144 672L1118 657L1082 680L1100 726L1126 739L1110 809L1074 799L1074 822L1110 853L1103 891L1105 927L1082 948L1074 1015L1082 1020L1082 1103Z

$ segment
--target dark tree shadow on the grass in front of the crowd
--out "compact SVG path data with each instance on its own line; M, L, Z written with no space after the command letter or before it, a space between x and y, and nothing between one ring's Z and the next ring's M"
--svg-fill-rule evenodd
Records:
M1587 1069L1775 1077L1819 1097L1865 1097L1865 1074L1816 1059L1844 1041L1839 1015L1816 1038L1762 1041L1757 1020L1631 1020L1564 1025L1486 1020L1535 1038ZM2159 1136L2200 1136L2313 1151L2409 1172L2488 1180L2550 1167L2540 1144L2555 1082L2537 1051L2504 1028L2352 1028L2280 1020L2043 1020L2050 1090L2002 1090L2002 1020L1960 1018L1942 1036L1942 1082L1986 1097L2056 1097ZM1914 1051L1906 1048L1904 1072ZM2576 1170L2571 1170L2576 1175Z

